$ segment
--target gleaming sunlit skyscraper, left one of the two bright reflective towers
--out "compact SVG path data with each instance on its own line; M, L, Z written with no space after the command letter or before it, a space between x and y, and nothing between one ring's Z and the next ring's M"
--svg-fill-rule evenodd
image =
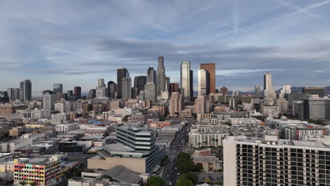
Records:
M185 101L193 99L193 70L190 70L190 61L181 63L181 94Z

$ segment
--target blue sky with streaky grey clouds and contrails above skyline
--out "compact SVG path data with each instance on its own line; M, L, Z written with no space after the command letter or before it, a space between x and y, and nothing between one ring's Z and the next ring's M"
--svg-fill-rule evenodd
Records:
M181 61L216 63L216 87L251 90L271 71L280 87L330 85L330 0L2 0L0 90L32 80L34 95L96 87ZM195 80L195 87L197 81Z

